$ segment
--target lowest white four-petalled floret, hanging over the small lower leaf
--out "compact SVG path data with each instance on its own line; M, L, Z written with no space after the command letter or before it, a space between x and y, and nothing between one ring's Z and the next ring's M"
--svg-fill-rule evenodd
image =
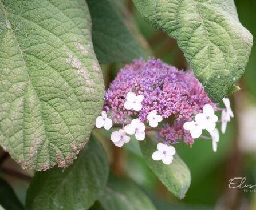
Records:
M152 159L153 160L162 160L164 164L171 164L172 160L174 159L173 155L175 154L176 150L172 146L168 146L163 143L157 144L157 151L153 152Z

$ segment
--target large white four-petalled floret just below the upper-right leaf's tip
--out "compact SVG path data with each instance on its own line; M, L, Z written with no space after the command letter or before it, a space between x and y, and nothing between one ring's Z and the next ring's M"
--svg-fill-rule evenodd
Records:
M200 124L202 129L206 129L210 132L216 127L218 116L214 114L214 109L210 104L205 104L203 106L203 113L196 114L195 121Z

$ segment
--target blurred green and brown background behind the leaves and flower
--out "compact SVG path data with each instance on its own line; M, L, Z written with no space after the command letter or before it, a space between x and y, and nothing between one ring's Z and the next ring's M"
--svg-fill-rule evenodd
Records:
M145 23L132 1L111 2L120 11L126 25L147 56L160 58L179 69L188 68L176 41ZM236 0L235 5L242 25L256 37L256 1ZM106 88L123 66L124 63L101 65ZM134 181L160 210L256 209L256 187L255 192L244 192L239 188L230 189L228 185L229 179L234 177L247 177L248 183L256 184L255 66L256 47L253 46L245 74L239 82L241 90L230 96L235 118L231 119L226 133L220 134L218 152L212 151L211 140L207 139L196 139L192 148L183 143L176 145L176 151L190 168L192 176L191 186L183 200L176 199L168 192L140 155L125 148L117 148L108 136L101 136L112 170L117 175ZM223 104L220 106L223 107ZM5 156L0 159L0 164L0 175L13 187L18 199L24 204L26 189L33 172L23 171L13 160ZM92 209L101 207L96 203Z

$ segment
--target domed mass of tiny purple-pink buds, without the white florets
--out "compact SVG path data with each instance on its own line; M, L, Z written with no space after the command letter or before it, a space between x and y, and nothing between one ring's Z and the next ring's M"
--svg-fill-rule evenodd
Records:
M124 108L128 92L144 96L140 111ZM185 143L192 144L194 141L183 124L202 112L204 104L215 108L192 72L178 71L174 66L151 59L148 62L135 60L120 70L105 92L103 110L111 111L115 123L131 121L125 118L127 115L137 115L141 122L148 123L147 115L152 110L156 110L163 119L175 115L174 124L164 124L159 138L167 143L183 139Z

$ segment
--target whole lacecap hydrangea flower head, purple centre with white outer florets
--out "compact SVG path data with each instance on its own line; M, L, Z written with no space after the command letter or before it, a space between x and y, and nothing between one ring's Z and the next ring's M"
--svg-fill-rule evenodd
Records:
M173 145L179 140L192 145L194 139L204 137L204 129L210 132L211 138L205 138L212 139L216 151L216 122L222 122L225 132L230 116L234 116L229 99L223 102L226 108L212 103L191 71L179 71L155 59L135 60L120 70L105 92L105 105L96 127L110 129L112 121L120 124L120 130L111 135L118 147L129 142L128 135L144 140L147 129L156 130L159 144L152 158L170 164L175 154ZM222 110L221 120L215 115L217 110Z

